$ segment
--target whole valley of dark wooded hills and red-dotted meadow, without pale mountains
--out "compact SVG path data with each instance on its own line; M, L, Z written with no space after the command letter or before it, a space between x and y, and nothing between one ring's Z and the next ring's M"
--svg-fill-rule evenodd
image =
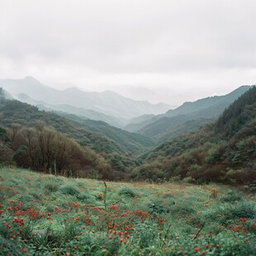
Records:
M241 87L135 133L1 88L0 254L253 255L255 104Z

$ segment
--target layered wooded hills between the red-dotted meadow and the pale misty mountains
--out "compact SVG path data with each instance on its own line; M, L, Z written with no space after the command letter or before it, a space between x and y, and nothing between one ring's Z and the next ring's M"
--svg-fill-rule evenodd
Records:
M44 143L51 137L69 138L63 140L73 147L71 150L68 146L72 159L66 168L82 169L85 176L100 170L98 177L109 179L254 183L255 104L256 87L243 86L225 96L186 102L164 115L135 117L131 119L133 124L147 124L140 128L143 131L140 134L66 113L63 109L40 111L38 107L11 99L1 89L0 162L6 158L21 167L37 169L39 166L38 170L42 171L59 168L60 172L61 161L56 159L63 159L59 147L64 149L64 145L59 142L52 145L54 153L48 161L50 146ZM32 147L30 140L34 141ZM40 154L37 165L33 164L33 158ZM23 156L26 161L22 160Z

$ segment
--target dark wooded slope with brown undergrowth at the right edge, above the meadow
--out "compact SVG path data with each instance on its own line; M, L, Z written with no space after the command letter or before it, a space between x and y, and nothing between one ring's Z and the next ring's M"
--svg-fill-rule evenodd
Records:
M219 119L145 154L134 178L176 178L195 183L256 182L256 87Z

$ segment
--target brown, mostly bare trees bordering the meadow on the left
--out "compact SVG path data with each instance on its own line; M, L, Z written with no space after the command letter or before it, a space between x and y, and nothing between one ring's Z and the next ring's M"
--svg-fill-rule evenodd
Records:
M36 121L32 128L18 124L0 127L0 164L16 164L68 177L124 178L92 149L79 145L42 121Z

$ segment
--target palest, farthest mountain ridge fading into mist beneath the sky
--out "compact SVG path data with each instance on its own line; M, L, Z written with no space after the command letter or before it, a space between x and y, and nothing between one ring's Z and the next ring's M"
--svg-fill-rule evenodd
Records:
M145 101L134 101L110 91L83 92L78 88L59 91L31 77L16 80L0 79L0 87L6 89L12 95L25 93L35 101L42 101L52 106L65 104L126 120L145 114L157 115L168 111L170 108L164 103L154 105Z

